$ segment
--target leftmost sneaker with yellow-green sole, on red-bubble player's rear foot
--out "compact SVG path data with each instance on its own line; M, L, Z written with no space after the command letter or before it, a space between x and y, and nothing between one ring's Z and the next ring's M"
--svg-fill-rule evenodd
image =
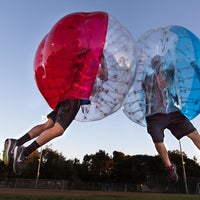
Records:
M4 150L3 150L3 162L6 166L11 164L13 160L13 153L14 148L16 147L17 140L15 139L6 139L4 143Z

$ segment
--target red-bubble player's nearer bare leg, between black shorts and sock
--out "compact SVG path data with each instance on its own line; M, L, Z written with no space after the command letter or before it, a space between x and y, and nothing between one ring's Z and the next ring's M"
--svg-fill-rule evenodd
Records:
M50 140L61 136L64 133L63 127L59 123L55 123L55 125L49 129L44 130L39 137L36 139L36 142L42 146L49 142Z

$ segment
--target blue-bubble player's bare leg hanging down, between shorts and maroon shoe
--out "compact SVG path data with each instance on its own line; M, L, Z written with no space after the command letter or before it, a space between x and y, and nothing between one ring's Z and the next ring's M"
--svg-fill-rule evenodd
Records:
M155 143L155 147L157 152L159 153L163 163L165 164L166 167L170 167L172 163L170 162L169 156L167 149L165 148L165 145L163 142L157 142Z

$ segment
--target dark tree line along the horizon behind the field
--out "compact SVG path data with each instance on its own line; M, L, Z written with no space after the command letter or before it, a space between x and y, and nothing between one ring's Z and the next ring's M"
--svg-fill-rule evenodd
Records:
M200 165L195 157L190 159L178 150L169 151L169 156L176 163L179 176L183 176L184 164L188 177L200 177ZM13 173L12 166L6 167L0 160L0 176L2 179L39 177L84 182L141 183L151 178L165 180L166 169L158 155L125 155L118 151L109 155L99 150L95 154L86 154L80 162L77 158L66 159L62 153L47 147L31 154L20 176Z

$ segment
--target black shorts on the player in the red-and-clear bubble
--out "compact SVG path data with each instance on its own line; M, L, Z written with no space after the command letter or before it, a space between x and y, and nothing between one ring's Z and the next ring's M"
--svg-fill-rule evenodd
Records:
M66 130L78 113L80 104L80 99L67 99L62 101L58 103L55 110L47 115L47 118L59 123Z

